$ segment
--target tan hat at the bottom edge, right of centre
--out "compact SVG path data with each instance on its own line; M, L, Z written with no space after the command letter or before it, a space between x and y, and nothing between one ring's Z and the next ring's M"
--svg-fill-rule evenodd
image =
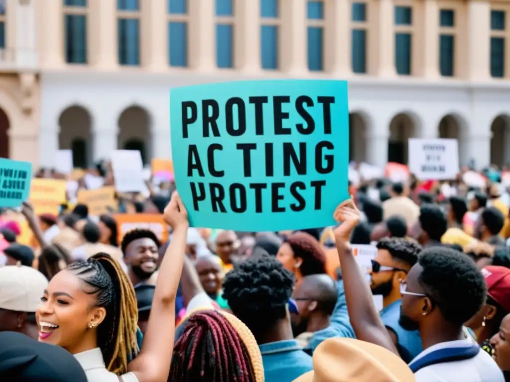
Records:
M416 382L411 369L384 347L351 338L329 338L314 352L314 370L294 382Z

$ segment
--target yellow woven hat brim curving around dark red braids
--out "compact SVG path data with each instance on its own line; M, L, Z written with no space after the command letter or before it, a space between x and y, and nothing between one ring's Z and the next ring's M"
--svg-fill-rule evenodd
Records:
M234 330L239 335L239 338L243 342L244 346L246 346L246 350L248 351L251 366L253 368L253 373L255 376L256 382L264 382L264 366L262 365L262 354L260 353L259 345L257 344L257 340L246 326L239 318L234 316L231 313L225 312L223 310L212 309L211 307L200 307L192 310L187 313L185 317L183 317L182 321L175 328L175 340L182 335L184 326L186 326L185 322L187 319L194 313L203 310L215 310L224 316L227 321L232 325Z

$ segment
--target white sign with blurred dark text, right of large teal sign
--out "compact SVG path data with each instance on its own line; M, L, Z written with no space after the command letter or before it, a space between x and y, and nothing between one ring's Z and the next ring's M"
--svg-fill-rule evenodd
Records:
M409 170L422 180L455 179L458 173L456 139L409 139Z

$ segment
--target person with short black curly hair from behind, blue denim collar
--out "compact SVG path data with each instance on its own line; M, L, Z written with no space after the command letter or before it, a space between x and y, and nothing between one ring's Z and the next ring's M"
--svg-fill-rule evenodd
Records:
M259 344L267 381L291 381L313 370L312 357L292 334L293 288L292 272L268 255L236 264L223 281L223 298Z

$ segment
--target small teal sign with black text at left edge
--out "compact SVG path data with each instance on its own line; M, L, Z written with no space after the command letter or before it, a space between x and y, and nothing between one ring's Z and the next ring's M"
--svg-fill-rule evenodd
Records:
M29 198L32 164L0 158L0 207L18 207Z

